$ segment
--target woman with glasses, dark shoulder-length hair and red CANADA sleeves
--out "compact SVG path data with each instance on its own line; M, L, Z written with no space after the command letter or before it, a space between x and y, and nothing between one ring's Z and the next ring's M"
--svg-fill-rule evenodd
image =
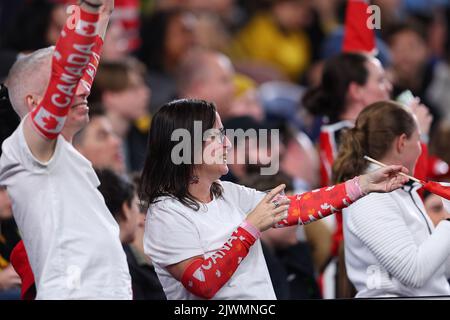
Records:
M153 118L141 185L144 249L168 299L274 299L262 231L307 224L406 182L397 175L406 169L389 166L302 195L281 196L284 185L265 194L219 180L230 146L212 103L173 101Z

